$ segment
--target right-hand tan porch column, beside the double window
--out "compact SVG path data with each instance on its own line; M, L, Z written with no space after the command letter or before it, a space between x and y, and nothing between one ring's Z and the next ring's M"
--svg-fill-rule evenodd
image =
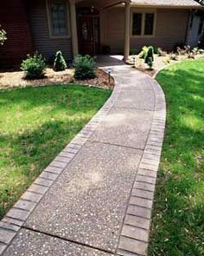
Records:
M130 55L130 25L131 25L131 1L125 3L124 61L127 61Z

